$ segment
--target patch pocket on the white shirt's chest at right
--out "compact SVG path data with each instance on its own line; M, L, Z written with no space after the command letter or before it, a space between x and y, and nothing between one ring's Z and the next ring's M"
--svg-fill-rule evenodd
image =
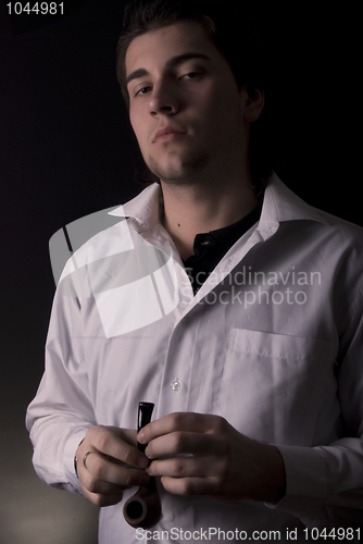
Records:
M336 396L334 344L233 329L220 413L251 438L311 445L321 404Z

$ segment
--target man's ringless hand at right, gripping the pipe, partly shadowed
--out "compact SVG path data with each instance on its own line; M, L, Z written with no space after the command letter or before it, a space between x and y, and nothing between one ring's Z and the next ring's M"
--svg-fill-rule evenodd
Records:
M285 494L278 449L248 438L218 416L171 413L146 425L137 440L149 443L146 455L155 459L148 474L161 475L170 493L272 504Z

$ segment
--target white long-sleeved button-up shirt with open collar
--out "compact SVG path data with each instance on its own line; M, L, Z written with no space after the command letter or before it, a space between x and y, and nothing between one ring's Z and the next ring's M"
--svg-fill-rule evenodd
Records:
M159 185L111 213L120 222L74 254L57 289L27 415L39 477L79 493L74 455L86 431L135 429L146 400L153 419L216 413L275 444L286 496L271 508L161 490L163 519L142 534L123 518L130 490L101 509L100 544L183 542L180 531L220 542L213 529L225 540L276 530L284 542L286 528L306 542L305 524L362 520L363 230L308 206L274 174L260 222L193 296L160 222Z

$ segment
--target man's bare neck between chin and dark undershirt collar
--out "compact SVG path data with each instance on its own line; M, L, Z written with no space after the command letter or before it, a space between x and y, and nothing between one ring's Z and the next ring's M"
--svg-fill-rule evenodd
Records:
M249 175L198 186L178 186L161 181L161 186L163 225L184 260L193 255L197 234L228 226L247 215L258 203Z

